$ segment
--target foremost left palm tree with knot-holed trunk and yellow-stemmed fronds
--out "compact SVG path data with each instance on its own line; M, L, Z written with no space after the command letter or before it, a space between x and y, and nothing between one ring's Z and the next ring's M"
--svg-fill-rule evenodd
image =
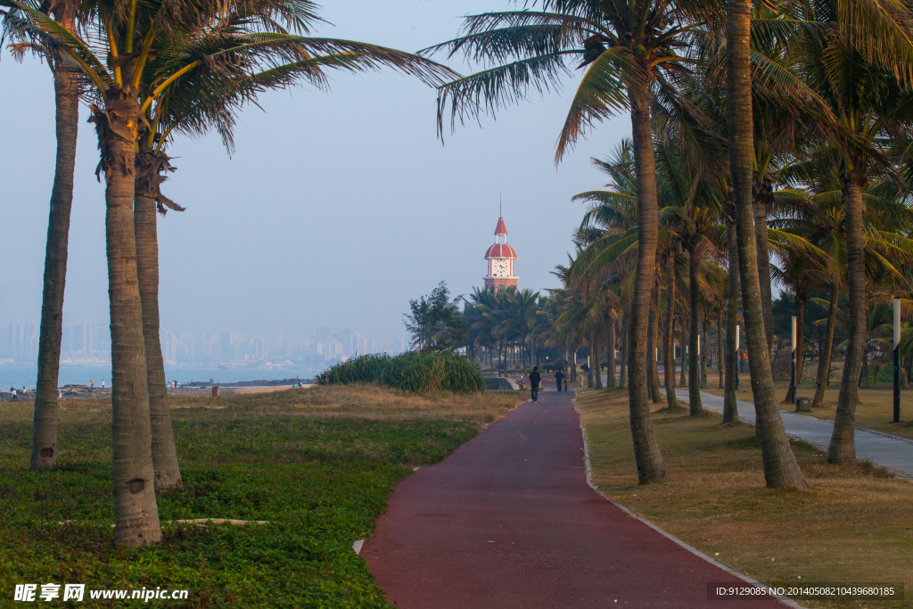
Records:
M14 0L15 1L15 0ZM136 151L141 142L144 112L161 100L179 79L204 64L215 72L247 78L251 68L281 68L307 61L315 54L358 53L361 43L327 38L295 37L222 30L222 5L183 5L156 0L144 5L115 2L94 7L88 36L69 32L35 7L16 2L30 24L66 49L89 85L91 121L99 135L99 171L106 180L106 236L111 312L112 403L114 418L115 537L130 545L159 541L155 505L142 297L136 265L133 205ZM237 5L242 20L256 23L252 4ZM299 3L308 11L312 5ZM302 8L303 7L303 8ZM294 11L291 11L293 14ZM208 25L208 29L207 29ZM205 37L195 58L170 54L186 47L185 38L201 31ZM423 58L391 61L409 66L429 81L450 72ZM404 62L404 58L408 57ZM154 88L143 88L146 71ZM146 74L146 76L150 76ZM155 128L150 129L154 136Z

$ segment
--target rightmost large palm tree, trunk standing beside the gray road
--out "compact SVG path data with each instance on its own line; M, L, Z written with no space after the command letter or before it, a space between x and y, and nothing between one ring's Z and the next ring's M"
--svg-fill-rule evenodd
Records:
M849 341L837 397L830 463L855 463L855 404L866 347L866 184L889 164L881 138L913 124L913 25L906 5L847 0L803 5L823 32L803 39L803 78L831 117L822 135L839 153L845 192Z

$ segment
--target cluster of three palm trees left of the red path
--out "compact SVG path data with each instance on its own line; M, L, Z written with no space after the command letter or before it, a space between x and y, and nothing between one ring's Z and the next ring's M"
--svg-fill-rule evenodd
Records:
M439 85L456 73L412 54L314 37L310 0L0 0L18 58L50 66L58 153L51 190L33 433L33 469L58 461L58 372L79 101L98 133L106 190L115 537L161 539L155 493L181 484L159 342L156 211L181 210L161 186L178 135L215 130L268 90L327 71L388 67Z

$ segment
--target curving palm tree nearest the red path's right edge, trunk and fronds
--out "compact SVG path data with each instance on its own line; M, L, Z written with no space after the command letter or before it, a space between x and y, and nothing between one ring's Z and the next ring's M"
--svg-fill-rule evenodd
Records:
M559 87L567 61L586 67L558 140L556 161L594 121L630 110L637 176L638 252L631 302L631 374L628 395L638 478L642 483L666 478L650 418L646 378L649 311L653 295L658 233L656 163L650 103L656 94L674 96L667 72L689 58L676 49L702 25L708 5L681 0L606 3L600 0L542 0L542 11L507 11L467 16L463 35L427 49L495 64L443 86L438 100L438 129L450 105L451 124L524 99L530 90Z

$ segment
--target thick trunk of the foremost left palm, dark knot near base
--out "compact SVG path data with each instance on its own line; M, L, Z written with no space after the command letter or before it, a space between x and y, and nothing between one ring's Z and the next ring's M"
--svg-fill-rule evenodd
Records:
M133 228L135 98L118 95L98 110L105 168L105 233L111 319L111 403L114 462L114 538L131 546L162 541L155 504L149 385L142 336L142 299L136 269ZM128 140L119 134L133 133Z

